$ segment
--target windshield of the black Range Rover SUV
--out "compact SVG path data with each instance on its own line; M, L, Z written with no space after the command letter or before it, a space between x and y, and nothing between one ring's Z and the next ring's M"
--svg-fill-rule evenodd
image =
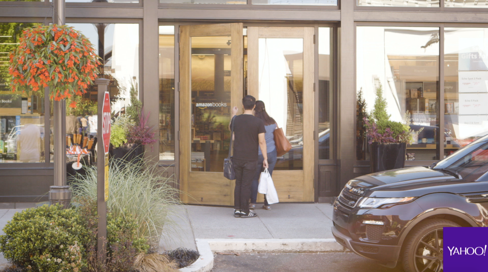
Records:
M480 143L476 150L447 168L459 173L465 181L475 181L488 171L488 142Z

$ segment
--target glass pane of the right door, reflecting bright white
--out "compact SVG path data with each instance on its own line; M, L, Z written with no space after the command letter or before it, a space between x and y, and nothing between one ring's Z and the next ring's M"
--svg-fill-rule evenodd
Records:
M303 168L303 39L259 39L259 100L292 144L275 169Z

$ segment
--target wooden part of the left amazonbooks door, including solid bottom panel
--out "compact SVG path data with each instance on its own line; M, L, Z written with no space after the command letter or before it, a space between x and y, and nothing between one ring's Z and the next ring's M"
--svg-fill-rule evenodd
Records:
M180 184L185 203L233 206L234 181L222 172L191 172L192 37L231 36L231 101L239 107L243 86L242 23L180 26ZM240 107L239 107L240 108ZM229 116L230 119L230 116ZM210 161L208 161L210 163ZM223 165L221 166L223 168Z

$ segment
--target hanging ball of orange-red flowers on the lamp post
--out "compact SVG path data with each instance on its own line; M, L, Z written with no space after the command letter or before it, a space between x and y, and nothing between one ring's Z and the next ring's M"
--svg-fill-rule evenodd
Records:
M92 43L73 27L26 28L10 54L11 89L28 94L49 87L51 99L73 97L70 107L76 108L76 98L97 78L98 58Z

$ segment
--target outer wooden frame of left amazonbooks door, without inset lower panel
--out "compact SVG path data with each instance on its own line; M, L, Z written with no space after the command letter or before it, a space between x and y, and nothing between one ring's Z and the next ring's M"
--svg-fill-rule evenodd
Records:
M180 196L184 203L198 203L198 199L190 195L190 181L219 181L228 182L224 194L230 196L227 205L233 205L235 183L224 178L221 172L191 172L191 111L192 111L192 93L191 93L191 57L192 57L192 37L205 36L231 36L231 105L238 107L241 103L243 93L243 24L242 23L225 23L225 24L202 24L202 25L180 25L179 27L179 182L180 190L183 192ZM239 95L235 95L239 94ZM239 108L239 107L238 107ZM227 184L226 184L227 185ZM211 188L210 188L211 189ZM223 203L225 204L225 203Z

